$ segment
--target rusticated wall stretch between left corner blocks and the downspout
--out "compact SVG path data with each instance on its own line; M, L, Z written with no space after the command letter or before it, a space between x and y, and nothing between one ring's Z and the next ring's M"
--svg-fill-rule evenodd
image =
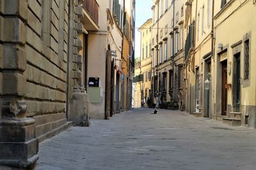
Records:
M28 1L26 31L26 117L43 138L67 122L68 1Z

